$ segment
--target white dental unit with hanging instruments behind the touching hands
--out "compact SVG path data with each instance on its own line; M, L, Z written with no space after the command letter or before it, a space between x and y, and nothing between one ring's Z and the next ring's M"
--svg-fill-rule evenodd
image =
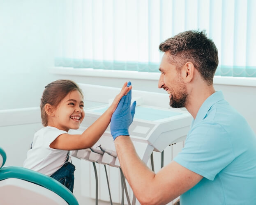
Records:
M119 91L119 89L113 87L101 87L88 84L79 84L79 86L83 90L83 93L85 93L85 102L86 99L89 99L92 102L100 102L105 104L93 107L92 103L91 108L85 109L85 119L81 123L80 128L78 130L74 130L74 133L82 133L86 128L94 123L110 105L112 100L107 99L110 99L113 94L115 95L115 93L118 93ZM114 96L112 98L114 98ZM105 99L105 101L103 102L102 99ZM152 152L160 152L162 167L164 161L164 149L168 145L185 140L187 132L190 128L192 116L187 111L170 109L168 108L169 105L164 105L163 102L168 102L168 96L166 94L136 91L133 89L131 102L134 100L137 102L136 112L134 121L129 128L129 134L135 150L145 164L147 164L149 159L151 159L152 170L154 169ZM83 164L85 164L86 161L94 163L96 162L99 164L99 170L101 169L100 164L104 165L104 167L108 165L113 169L120 168L120 163L110 132L110 126L108 126L95 146L85 150L74 150L72 152L72 156L78 159L84 159L85 161L81 161ZM90 170L90 165L83 166L83 169L87 169L86 171L84 170L86 173L90 173L90 171L92 171ZM111 169L111 171L113 169ZM116 171L115 173L117 174ZM119 174L121 184L123 185L125 180L122 178L123 175L121 169ZM86 176L84 175L83 177L85 178ZM100 180L103 180L103 176L100 177ZM87 189L90 188L91 187L87 187ZM123 189L125 189L124 186L121 187L122 197L120 197L119 200L112 198L113 202L124 204ZM108 191L110 194L111 190L108 189ZM126 191L126 195L127 192L128 191ZM87 196L95 198L93 194ZM101 197L99 197L99 199L104 200ZM130 204L128 196L125 203ZM135 203L138 204L135 202L133 197L132 204Z

